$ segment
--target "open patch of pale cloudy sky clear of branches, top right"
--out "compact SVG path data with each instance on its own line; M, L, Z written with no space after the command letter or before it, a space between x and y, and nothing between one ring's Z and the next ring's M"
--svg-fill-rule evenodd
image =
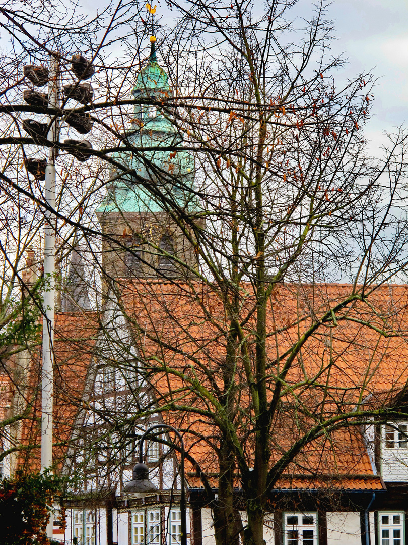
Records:
M300 0L296 10L307 13L311 5ZM371 70L378 78L374 116L366 128L374 151L384 141L383 131L408 124L408 0L333 0L329 16L337 37L333 51L349 60L341 75Z

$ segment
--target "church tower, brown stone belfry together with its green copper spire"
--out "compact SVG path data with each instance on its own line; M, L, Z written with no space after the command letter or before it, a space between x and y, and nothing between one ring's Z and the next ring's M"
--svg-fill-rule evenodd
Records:
M132 128L123 144L136 150L113 159L127 167L110 171L108 193L96 214L102 233L103 267L112 278L186 277L197 266L193 245L171 218L171 211L198 212L193 196L194 159L180 150L182 135L152 102L172 95L168 76L157 63L152 36L150 57L137 75ZM115 241L119 241L120 244ZM121 247L122 246L122 247Z

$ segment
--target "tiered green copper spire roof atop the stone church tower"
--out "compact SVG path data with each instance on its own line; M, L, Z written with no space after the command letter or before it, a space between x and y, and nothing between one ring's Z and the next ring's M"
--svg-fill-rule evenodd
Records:
M126 134L129 144L145 151L113 155L113 159L134 169L136 176L120 175L120 171L113 169L110 173L112 184L98 213L163 211L162 203L144 189L140 178L154 180L181 207L193 208L189 189L194 185L194 159L188 152L174 153L168 149L180 148L183 136L172 125L165 108L160 110L159 105L154 104L165 102L172 96L172 91L168 75L157 63L156 38L152 36L150 42L150 56L138 72L132 90L134 116L132 129ZM118 175L120 178L115 179Z

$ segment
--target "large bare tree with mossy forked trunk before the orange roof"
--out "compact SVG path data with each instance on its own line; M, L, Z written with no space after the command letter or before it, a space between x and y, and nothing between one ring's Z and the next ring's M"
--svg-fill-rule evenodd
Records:
M7 121L0 141L9 147L2 191L9 203L29 199L29 221L39 229L46 209L41 187L17 164L37 143L61 151L53 210L58 255L63 268L72 249L85 248L95 279L77 259L79 280L74 275L71 284L77 282L77 295L85 278L94 288L88 295L94 312L83 315L98 338L86 346L83 322L75 335L86 387L61 387L78 411L75 438L66 433L64 447L83 440L82 408L87 423L90 415L96 419L90 456L110 441L111 461L115 449L131 443L135 422L159 413L183 430L209 494L217 479L217 544L237 542L241 533L245 543L261 545L269 494L282 479L309 472L318 480L330 470L341 481L343 465L333 469L332 458L347 445L363 450L358 427L398 415L402 359L398 378L387 381L390 392L377 405L364 400L379 393L390 343L394 349L405 343L404 290L393 283L405 279L407 259L406 140L400 129L380 158L368 155L363 128L374 80L362 74L336 85L343 60L330 56L332 25L323 3L296 32L288 19L293 2L257 9L251 2L169 4L177 25L157 26L157 51L152 40L150 53L141 47L150 28L145 15L132 22L136 37L128 35L129 5L119 4L112 16L107 9L98 45L86 40L96 36L102 16L79 20L67 33L62 23L51 29L31 13L29 33L22 25L28 8L2 8L15 44L3 57L9 99L1 106ZM39 25L46 41L36 38ZM76 33L95 61L100 87L97 99L72 107L79 80L65 55L76 51ZM104 57L119 39L125 61ZM60 106L18 104L23 83L10 66L63 47L61 77L71 88ZM85 123L90 114L92 149L78 150L71 137L23 136L27 111L51 113L71 127L75 116ZM78 166L78 154L91 159ZM6 230L10 225L5 221ZM78 297L70 310L75 304L81 310ZM64 331L61 340L72 342ZM115 410L85 353L101 370L121 373L125 393ZM72 356L56 354L64 381ZM66 429L74 412L63 416ZM313 457L320 465L307 468ZM104 467L108 482L112 464ZM238 480L244 530L234 505Z

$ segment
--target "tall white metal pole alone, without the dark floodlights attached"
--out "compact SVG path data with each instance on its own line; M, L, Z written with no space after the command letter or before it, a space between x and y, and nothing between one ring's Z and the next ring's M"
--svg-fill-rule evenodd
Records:
M58 56L52 57L48 102L58 106ZM58 139L58 119L50 116L48 140ZM44 200L55 209L55 158L57 149L50 148L45 169ZM42 414L41 414L41 471L52 466L52 410L53 410L53 340L54 340L54 298L55 298L55 215L45 211L44 228L44 318L42 322ZM53 517L47 525L47 537L53 536Z

